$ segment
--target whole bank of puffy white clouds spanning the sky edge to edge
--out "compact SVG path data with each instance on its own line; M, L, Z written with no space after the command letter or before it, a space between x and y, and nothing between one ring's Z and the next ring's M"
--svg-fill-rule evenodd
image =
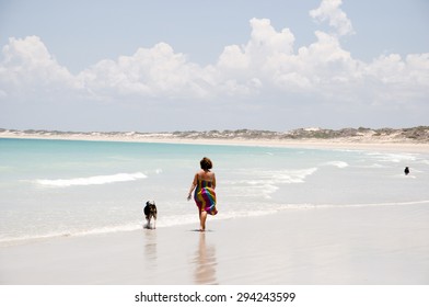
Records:
M277 31L267 19L252 19L248 42L225 46L218 61L206 67L159 43L72 75L39 37L10 38L0 62L0 101L68 96L119 105L125 99L137 103L156 99L210 101L213 109L223 99L234 98L262 101L258 107L263 109L267 101L294 107L301 98L311 96L306 101L313 105L352 102L350 110L427 101L429 54L382 55L371 62L352 58L340 44L341 35L352 33L340 4L340 0L324 0L310 12L328 21L337 33L316 31L315 41L297 50L289 29ZM286 95L293 95L293 101L285 102Z

